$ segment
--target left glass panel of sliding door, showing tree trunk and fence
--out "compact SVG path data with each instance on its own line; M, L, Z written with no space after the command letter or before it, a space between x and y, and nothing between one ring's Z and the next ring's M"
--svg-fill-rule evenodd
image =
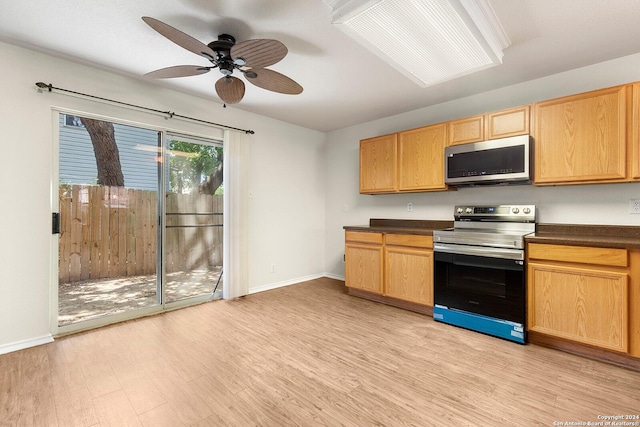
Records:
M59 114L58 325L160 304L158 136Z

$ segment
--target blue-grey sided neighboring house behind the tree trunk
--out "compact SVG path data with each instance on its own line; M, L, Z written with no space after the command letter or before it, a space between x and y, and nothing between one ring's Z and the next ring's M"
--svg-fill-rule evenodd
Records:
M60 125L60 183L96 184L98 172L89 133L80 119L68 114L59 115ZM126 188L158 189L157 146L154 130L114 123L116 144Z

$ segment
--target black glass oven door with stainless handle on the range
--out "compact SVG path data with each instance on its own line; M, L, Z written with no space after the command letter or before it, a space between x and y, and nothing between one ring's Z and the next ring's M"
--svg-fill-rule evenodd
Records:
M524 325L524 251L434 245L434 303Z

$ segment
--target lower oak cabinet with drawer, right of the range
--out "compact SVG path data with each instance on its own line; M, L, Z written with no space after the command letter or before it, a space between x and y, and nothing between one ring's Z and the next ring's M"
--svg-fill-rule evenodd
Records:
M530 331L629 351L626 249L531 243L527 252Z

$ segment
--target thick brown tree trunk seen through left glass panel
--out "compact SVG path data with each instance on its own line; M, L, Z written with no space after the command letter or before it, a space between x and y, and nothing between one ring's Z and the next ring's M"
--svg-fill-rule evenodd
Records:
M81 117L89 132L98 168L98 185L124 187L120 153L116 144L113 123Z

